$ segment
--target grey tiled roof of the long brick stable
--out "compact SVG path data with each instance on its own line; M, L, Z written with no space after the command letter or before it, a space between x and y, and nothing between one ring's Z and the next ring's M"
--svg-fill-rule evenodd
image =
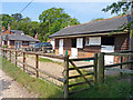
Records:
M123 24L126 26L129 22L131 22L130 14L120 16L110 19L66 27L55 32L54 34L51 34L50 38L117 31L122 30L122 28L120 27L122 27Z

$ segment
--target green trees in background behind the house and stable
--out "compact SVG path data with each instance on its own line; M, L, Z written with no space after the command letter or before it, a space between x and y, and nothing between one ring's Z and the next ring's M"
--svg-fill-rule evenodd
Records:
M39 33L39 40L48 41L49 36L68 26L79 24L75 18L71 18L62 8L51 8L39 16L40 22L31 21L30 18L23 18L21 13L0 14L2 26L10 23L12 30L22 30L25 34L34 37ZM0 26L0 27L2 27Z

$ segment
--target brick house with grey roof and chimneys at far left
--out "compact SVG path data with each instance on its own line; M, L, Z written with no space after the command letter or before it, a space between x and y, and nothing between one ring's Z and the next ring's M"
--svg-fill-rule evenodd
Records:
M0 46L12 49L21 49L21 48L28 48L31 43L38 43L40 40L27 36L23 33L23 31L20 30L10 30L10 27L8 30L2 28L2 32L0 33Z

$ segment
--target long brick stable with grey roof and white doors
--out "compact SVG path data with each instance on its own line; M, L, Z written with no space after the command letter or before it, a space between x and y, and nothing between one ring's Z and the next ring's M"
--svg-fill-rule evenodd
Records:
M50 38L55 40L55 53L71 58L89 58L98 52L129 50L130 32L126 28L131 16L119 16L104 20L66 27ZM108 59L106 59L108 58ZM117 60L113 56L105 57L106 62Z

